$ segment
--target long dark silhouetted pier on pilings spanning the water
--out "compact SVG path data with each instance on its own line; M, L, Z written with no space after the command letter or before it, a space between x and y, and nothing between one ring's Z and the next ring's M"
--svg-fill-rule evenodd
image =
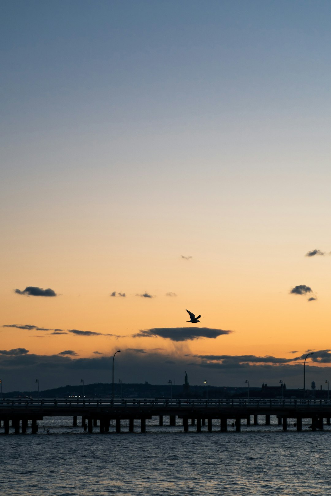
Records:
M38 421L44 417L68 417L77 426L77 417L81 417L82 428L92 433L99 427L100 433L109 432L110 421L116 421L116 432L121 432L121 421L129 420L129 432L133 432L134 420L140 421L140 430L146 432L146 420L159 417L159 425L163 425L163 417L169 416L170 426L182 421L184 432L188 432L189 423L201 432L201 426L207 422L207 430L212 431L219 422L221 432L226 432L228 420L232 420L236 430L241 430L244 419L248 426L251 417L254 425L258 425L258 416L265 416L265 425L270 425L270 416L278 418L278 425L284 431L288 427L288 419L295 419L297 431L302 430L302 420L310 419L313 431L323 430L324 419L330 425L331 401L324 399L182 399L182 398L55 398L55 399L9 399L0 400L0 427L4 434L9 434L10 423L16 434L27 432L29 422L31 432L38 432Z

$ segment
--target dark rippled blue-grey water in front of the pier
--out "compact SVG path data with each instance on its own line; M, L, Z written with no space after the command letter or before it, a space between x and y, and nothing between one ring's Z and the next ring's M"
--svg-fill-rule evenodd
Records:
M1 495L330 496L331 427L311 432L307 422L298 433L290 422L283 432L275 417L267 427L264 420L243 421L240 433L231 421L220 433L216 420L212 433L184 433L168 417L163 427L147 420L145 434L139 421L135 433L123 422L116 434L114 422L109 434L89 434L67 417L44 417L38 434L1 428Z

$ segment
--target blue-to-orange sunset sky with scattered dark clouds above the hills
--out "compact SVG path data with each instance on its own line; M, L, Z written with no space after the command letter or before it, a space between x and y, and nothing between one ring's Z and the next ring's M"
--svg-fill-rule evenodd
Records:
M330 1L0 9L3 391L327 387Z

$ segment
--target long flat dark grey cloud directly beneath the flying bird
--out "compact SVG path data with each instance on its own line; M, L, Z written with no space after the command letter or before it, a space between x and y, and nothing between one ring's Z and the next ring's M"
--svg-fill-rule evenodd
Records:
M223 329L209 329L208 327L162 327L154 329L140 330L133 334L134 338L159 336L172 341L189 341L199 338L215 339L222 334L230 334L232 331Z

